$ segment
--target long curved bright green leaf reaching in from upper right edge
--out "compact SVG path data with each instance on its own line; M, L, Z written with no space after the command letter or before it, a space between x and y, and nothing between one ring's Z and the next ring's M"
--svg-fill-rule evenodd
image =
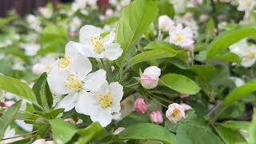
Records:
M243 38L255 37L256 36L256 26L238 26L233 30L227 30L222 34L218 35L210 46L207 47L206 58L214 58L215 55L222 52L235 42Z

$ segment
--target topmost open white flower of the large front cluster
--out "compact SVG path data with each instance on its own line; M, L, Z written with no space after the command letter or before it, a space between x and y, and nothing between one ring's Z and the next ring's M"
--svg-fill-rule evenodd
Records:
M79 32L80 45L76 48L78 52L86 57L107 58L111 61L122 55L122 48L114 42L114 32L101 36L102 30L95 26L82 26Z

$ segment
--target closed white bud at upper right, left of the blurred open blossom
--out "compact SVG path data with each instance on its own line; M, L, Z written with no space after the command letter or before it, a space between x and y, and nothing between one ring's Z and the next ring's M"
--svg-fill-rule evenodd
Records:
M167 16L167 15L161 15L158 18L158 27L159 30L162 30L164 32L169 31L174 26L174 22Z

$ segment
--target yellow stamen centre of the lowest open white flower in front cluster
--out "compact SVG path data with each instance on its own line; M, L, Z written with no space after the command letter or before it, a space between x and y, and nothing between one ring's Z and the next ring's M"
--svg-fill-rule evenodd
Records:
M110 91L106 92L106 94L98 94L98 102L102 108L109 107L113 102L113 97Z

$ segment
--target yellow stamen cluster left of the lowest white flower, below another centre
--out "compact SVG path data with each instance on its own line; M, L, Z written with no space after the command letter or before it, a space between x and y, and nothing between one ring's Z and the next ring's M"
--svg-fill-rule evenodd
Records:
M81 90L82 89L82 81L78 78L76 74L70 74L66 78L66 87L70 90Z

